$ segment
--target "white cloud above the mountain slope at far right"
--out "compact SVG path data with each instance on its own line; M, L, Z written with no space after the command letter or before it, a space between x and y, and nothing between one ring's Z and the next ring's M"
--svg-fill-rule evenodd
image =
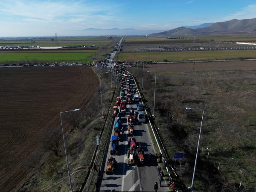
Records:
M242 8L240 11L235 12L234 14L227 15L226 17L221 18L219 20L227 21L232 19L252 19L256 18L256 4L249 5L247 7Z

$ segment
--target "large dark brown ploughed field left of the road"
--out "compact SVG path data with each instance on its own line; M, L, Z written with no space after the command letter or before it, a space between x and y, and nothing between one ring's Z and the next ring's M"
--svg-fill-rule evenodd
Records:
M61 111L84 109L98 79L89 67L0 69L0 189L20 187L40 137Z

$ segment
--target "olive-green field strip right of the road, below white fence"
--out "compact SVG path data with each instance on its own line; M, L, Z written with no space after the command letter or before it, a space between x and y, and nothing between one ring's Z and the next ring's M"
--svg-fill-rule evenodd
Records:
M196 55L195 55L196 54ZM115 59L119 61L194 61L256 58L255 50L228 50L228 51L196 51L196 52L133 52L119 53Z

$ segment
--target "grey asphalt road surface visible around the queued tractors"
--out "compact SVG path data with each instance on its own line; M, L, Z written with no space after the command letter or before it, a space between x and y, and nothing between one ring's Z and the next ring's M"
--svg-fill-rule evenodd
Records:
M124 85L126 90L126 85ZM135 89L134 81L131 83L131 89ZM125 92L126 94L126 92ZM134 137L137 143L141 142L141 146L145 151L145 166L138 167L137 165L129 166L128 165L128 156L127 150L129 150L127 138L128 138L128 122L126 117L129 115L128 111L130 108L136 109L136 104L139 102L133 102L132 105L127 105L126 111L120 113L121 122L124 128L124 134L120 136L118 154L112 155L113 158L117 161L116 170L113 172L113 175L107 175L105 172L102 177L102 183L100 191L110 192L112 189L115 189L116 192L154 192L154 181L157 181L159 184L159 177L157 171L157 165L154 163L153 158L148 160L149 153L155 154L155 149L153 142L149 133L149 124L135 122L134 123ZM119 107L120 111L120 107ZM114 134L114 128L112 128L112 134ZM111 143L108 146L108 155L107 160L110 157L109 149L111 148ZM162 165L161 165L162 166ZM107 163L105 162L106 170ZM168 177L166 177L167 180ZM162 187L158 185L159 192L169 191L167 183L162 181Z

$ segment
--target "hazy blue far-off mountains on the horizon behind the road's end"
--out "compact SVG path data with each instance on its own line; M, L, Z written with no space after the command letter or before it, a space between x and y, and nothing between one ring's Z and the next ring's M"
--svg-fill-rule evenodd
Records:
M88 28L84 29L84 35L148 35L150 33L157 33L162 32L163 30L137 30L132 28L126 29L95 29L95 28Z

